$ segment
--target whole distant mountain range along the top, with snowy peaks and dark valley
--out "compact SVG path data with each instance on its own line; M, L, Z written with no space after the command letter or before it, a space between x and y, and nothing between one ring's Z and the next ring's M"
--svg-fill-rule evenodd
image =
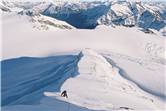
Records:
M97 25L140 27L145 33L166 33L166 2L134 2L128 0L67 2L11 2L11 8L26 10L27 14L40 13L63 20L76 28L95 28ZM20 10L19 10L20 11Z

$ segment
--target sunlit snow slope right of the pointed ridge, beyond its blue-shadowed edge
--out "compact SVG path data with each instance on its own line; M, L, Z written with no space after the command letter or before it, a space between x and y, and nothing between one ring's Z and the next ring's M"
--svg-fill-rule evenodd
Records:
M166 99L165 80L162 79L164 78L164 61L142 60L114 53L105 54L105 56L111 64L120 69L122 76L136 83L144 91L163 100Z

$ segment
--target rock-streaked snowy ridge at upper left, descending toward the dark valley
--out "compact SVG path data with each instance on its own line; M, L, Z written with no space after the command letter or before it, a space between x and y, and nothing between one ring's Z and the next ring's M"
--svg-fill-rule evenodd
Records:
M28 2L29 3L29 2ZM25 10L32 8L34 5L39 5L39 3L8 3L2 2L0 4L0 8L2 10L3 18L8 18L9 16L12 17L12 21L24 21L29 24L30 27L38 30L57 30L57 29L74 29L73 26L69 25L68 23L57 20L40 13L32 13L30 10ZM15 6L16 4L20 6ZM26 5L25 5L26 4ZM27 6L28 4L28 6Z

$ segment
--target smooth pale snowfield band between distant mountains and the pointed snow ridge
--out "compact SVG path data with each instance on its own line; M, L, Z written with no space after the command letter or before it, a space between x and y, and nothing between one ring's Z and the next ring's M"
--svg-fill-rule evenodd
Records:
M46 56L84 48L108 50L138 58L165 58L165 38L142 33L137 28L99 26L95 30L55 28L40 31L33 28L34 24L29 22L28 16L12 13L2 13L2 21L3 59Z

